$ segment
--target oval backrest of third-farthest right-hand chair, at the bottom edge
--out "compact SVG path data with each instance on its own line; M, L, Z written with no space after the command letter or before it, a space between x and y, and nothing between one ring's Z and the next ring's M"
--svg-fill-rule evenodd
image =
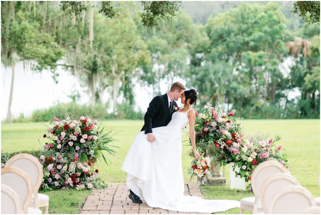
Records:
M304 187L293 185L284 187L271 199L269 214L298 214L317 206L313 195Z

